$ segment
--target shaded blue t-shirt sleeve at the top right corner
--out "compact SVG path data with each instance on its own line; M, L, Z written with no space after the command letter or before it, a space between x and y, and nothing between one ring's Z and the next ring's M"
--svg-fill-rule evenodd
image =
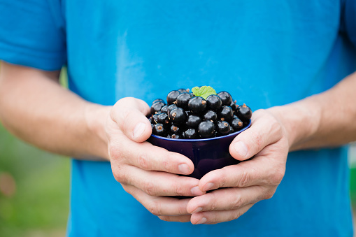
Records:
M344 31L356 47L356 1L343 0L341 31Z

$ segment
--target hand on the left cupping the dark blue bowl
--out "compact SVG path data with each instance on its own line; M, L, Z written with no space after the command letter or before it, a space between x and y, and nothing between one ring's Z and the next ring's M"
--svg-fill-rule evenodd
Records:
M148 143L150 107L134 98L120 99L111 108L106 122L108 152L115 179L161 220L190 222L190 199L169 196L199 196L199 180L179 176L192 173L190 159Z

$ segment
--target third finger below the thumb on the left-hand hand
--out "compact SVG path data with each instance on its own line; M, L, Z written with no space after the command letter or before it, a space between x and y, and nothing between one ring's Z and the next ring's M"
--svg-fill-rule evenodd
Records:
M174 199L166 196L150 196L131 185L122 185L125 191L134 196L150 213L157 216L181 216L187 213L190 199Z

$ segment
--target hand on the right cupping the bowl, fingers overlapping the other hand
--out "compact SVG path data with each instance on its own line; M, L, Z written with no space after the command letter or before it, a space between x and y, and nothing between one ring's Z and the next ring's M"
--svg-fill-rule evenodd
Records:
M257 201L270 199L276 192L285 173L289 143L285 127L271 111L255 111L252 126L232 141L230 154L243 162L201 178L199 189L213 191L194 197L187 204L192 224L237 219ZM253 159L245 161L250 157Z

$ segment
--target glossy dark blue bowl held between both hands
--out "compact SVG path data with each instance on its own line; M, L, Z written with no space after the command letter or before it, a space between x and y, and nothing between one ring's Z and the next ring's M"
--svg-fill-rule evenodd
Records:
M234 138L251 126L251 121L247 127L227 136L206 139L173 139L162 136L151 135L148 142L157 145L171 152L177 152L185 155L193 161L193 178L200 179L206 173L224 166L238 164L229 153L229 145Z

